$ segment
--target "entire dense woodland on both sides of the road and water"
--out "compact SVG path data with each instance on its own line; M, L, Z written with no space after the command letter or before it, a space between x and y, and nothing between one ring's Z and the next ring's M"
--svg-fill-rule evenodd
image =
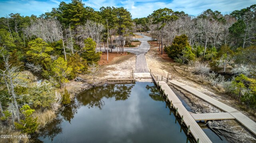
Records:
M256 5L227 15L206 10L196 17L161 8L132 20L123 7L95 11L82 0L72 0L39 17L9 14L0 18L0 125L24 133L43 127L32 113L54 112L69 104L65 83L78 74L95 78L103 43L105 50L117 44L122 53L123 41L134 30L150 31L161 53L202 67L194 73L212 77L213 84L223 83L227 93L255 107L255 24ZM118 43L113 43L115 37ZM215 72L235 77L224 85Z

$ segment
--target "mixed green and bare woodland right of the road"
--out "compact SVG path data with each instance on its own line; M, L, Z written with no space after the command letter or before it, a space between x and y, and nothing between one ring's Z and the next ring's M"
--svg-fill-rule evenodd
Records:
M208 9L190 16L164 8L134 23L138 31L150 31L159 51L164 47L174 61L194 66L202 80L225 88L255 112L255 4L226 15ZM225 81L225 74L234 77Z

